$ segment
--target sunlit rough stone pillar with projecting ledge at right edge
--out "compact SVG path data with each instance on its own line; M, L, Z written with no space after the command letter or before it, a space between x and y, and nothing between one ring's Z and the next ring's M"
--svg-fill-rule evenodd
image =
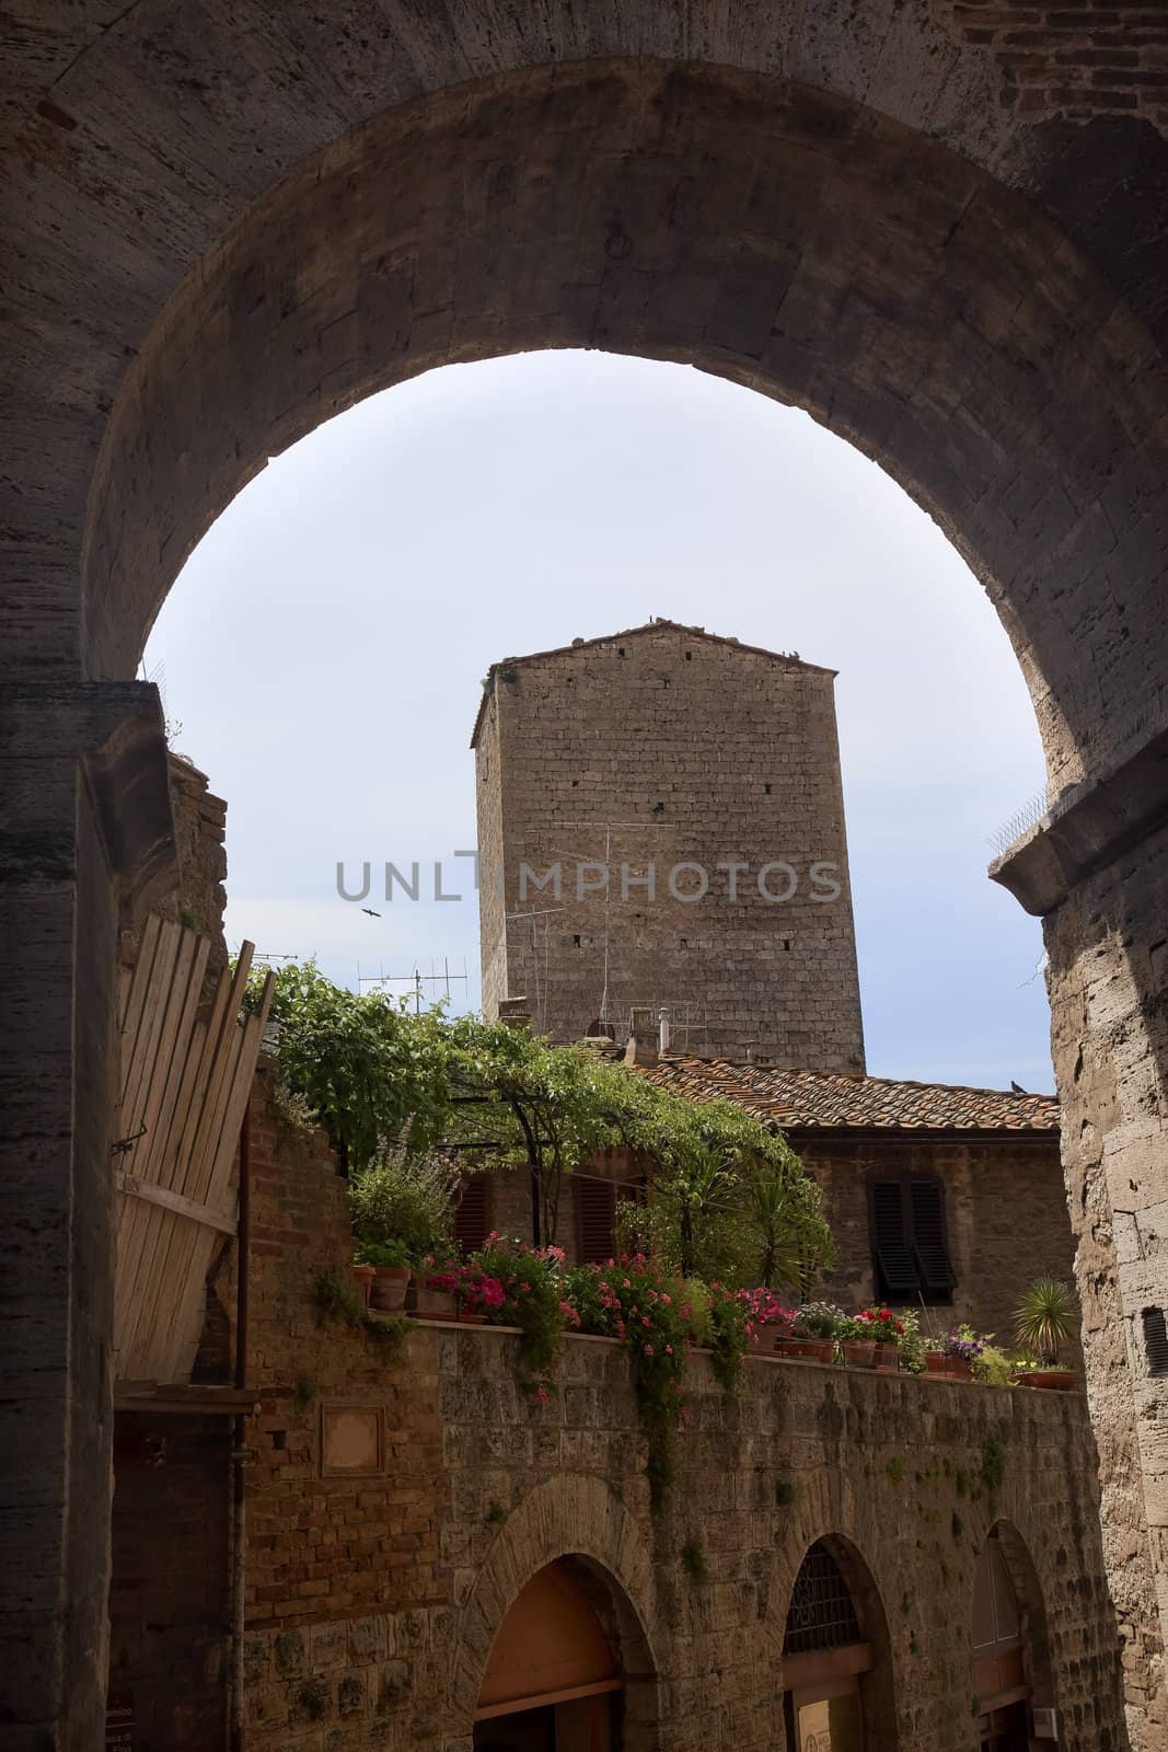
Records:
M1131 1745L1168 1743L1168 732L1059 799L991 874L1044 918L1063 1170Z

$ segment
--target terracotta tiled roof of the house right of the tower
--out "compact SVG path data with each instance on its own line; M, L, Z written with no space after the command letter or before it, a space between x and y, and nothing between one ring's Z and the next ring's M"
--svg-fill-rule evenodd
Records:
M690 1100L723 1097L792 1130L1058 1132L1054 1095L893 1083L683 1055L665 1055L637 1070Z

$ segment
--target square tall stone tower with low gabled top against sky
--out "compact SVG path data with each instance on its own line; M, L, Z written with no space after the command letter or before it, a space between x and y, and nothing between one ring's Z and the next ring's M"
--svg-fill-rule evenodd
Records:
M863 1070L834 680L672 620L494 664L485 1014Z

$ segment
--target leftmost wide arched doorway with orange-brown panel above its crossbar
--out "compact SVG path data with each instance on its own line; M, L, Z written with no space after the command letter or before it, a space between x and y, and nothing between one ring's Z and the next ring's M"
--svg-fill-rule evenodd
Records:
M557 1558L520 1589L487 1659L475 1752L623 1752L616 1601L601 1572Z

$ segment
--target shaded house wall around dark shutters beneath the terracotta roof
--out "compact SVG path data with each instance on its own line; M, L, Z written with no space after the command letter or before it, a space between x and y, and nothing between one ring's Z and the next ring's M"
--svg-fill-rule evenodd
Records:
M933 1332L970 1321L1014 1344L1014 1310L1040 1272L1072 1281L1073 1237L1058 1137L967 1141L956 1135L790 1134L809 1174L823 1188L837 1263L823 1295L863 1307L876 1295L869 1226L870 1179L935 1176L946 1193L946 1239L956 1277L953 1303L928 1310Z

